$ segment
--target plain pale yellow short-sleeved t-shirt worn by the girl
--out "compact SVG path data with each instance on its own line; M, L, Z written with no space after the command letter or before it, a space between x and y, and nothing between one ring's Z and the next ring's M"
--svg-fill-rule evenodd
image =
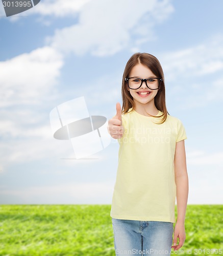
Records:
M130 109L131 110L131 109ZM111 217L176 222L174 157L176 142L187 138L182 122L167 115L122 114L125 133L119 142ZM163 114L159 111L157 116Z

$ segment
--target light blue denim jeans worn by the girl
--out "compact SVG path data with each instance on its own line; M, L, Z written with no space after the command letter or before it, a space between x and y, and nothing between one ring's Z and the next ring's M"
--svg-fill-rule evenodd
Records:
M116 255L170 255L174 223L112 218Z

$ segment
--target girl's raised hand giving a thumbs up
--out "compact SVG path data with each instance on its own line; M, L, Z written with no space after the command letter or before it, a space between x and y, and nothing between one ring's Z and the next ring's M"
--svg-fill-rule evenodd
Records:
M108 132L113 139L120 139L124 133L121 121L121 105L116 104L116 115L108 121Z

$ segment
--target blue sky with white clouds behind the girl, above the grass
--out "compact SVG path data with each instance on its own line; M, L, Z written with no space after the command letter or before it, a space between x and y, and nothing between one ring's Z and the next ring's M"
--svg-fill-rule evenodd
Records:
M117 141L97 159L70 160L49 113L84 96L90 115L110 119L126 62L148 52L186 129L188 203L222 204L222 9L220 0L41 0L6 17L0 3L0 203L111 203Z

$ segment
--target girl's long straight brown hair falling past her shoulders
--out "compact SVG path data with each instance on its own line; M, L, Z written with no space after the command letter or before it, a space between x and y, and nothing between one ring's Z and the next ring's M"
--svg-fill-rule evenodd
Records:
M169 115L166 109L164 74L163 74L163 69L160 65L159 60L155 56L148 53L135 53L131 56L131 58L128 60L126 64L126 68L124 70L123 77L122 77L122 87L121 87L122 114L127 113L131 108L132 108L131 111L135 109L135 103L133 101L132 95L127 89L127 81L125 79L126 77L129 76L132 68L139 63L149 68L156 77L163 78L163 81L160 84L160 88L157 92L157 95L154 98L154 103L156 108L159 111L163 112L163 114L161 116L151 115L152 117L162 117L162 120L160 122L161 124L165 122L167 118L167 114Z

